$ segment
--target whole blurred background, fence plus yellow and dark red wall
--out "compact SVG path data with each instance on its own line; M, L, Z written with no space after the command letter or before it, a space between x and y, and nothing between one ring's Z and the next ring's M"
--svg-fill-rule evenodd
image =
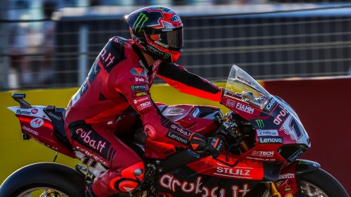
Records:
M351 193L351 2L343 0L1 0L0 182L54 155L22 141L6 110L18 105L11 93L25 89L32 105L65 107L107 41L130 38L124 15L150 5L169 6L182 18L177 63L211 82L224 82L239 65L290 103L313 144L304 156ZM168 88L153 87L155 101L219 105Z

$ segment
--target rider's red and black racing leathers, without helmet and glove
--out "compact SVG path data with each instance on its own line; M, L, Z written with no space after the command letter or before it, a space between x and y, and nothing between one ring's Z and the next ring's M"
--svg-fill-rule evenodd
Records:
M133 40L110 39L66 110L73 147L109 167L93 184L97 196L131 191L143 179L141 158L116 136L124 132L118 125L130 107L154 141L189 146L193 133L164 117L150 96L155 75L186 94L220 101L221 89L202 77L160 60L148 67Z

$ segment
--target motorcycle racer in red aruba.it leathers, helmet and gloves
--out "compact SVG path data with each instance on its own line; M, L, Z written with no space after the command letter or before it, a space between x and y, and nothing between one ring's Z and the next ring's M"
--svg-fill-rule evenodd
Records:
M186 94L220 101L222 89L175 64L183 49L183 23L172 9L149 6L126 16L131 38L113 37L97 56L66 110L66 132L73 148L109 167L86 196L112 196L136 189L145 168L141 158L116 134L135 110L149 139L196 153L218 156L220 136L206 138L162 115L150 96L154 78ZM133 123L131 123L133 124Z

